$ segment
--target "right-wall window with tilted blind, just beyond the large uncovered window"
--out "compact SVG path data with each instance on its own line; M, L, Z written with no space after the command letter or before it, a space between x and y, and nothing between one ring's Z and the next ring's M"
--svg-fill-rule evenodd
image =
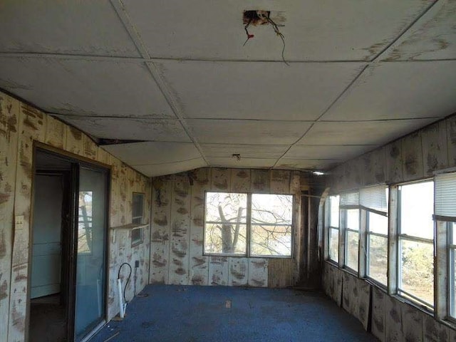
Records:
M388 187L377 185L360 191L366 210L366 275L388 284Z

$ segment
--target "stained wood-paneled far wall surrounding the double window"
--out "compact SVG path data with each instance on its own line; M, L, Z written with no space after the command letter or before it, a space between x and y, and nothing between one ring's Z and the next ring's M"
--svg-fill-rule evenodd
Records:
M192 179L192 185L190 185ZM294 194L293 259L203 255L204 192ZM150 283L284 287L299 280L300 172L202 168L152 180Z

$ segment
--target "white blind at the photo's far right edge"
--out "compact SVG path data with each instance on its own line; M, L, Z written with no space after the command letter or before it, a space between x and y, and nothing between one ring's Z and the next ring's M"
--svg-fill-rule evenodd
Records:
M435 175L435 215L456 217L456 172Z

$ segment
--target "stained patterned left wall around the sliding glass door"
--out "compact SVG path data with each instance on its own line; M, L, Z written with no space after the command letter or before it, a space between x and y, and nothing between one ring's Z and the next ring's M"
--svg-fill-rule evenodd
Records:
M26 336L35 141L111 167L110 228L131 222L133 192L145 193L145 222L150 220L149 178L95 145L81 131L0 93L0 341L24 341ZM16 224L15 218L19 218ZM145 237L149 233L149 228L145 229ZM147 284L150 242L146 238L131 247L130 236L128 230L110 229L108 318L119 311L115 282L120 264L134 266L135 260L140 261L137 291ZM133 296L131 282L126 296Z

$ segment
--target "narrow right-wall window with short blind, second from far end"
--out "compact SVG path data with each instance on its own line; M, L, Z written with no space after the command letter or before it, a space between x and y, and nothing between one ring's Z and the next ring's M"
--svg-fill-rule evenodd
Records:
M345 237L345 260L343 266L358 271L359 255L359 193L341 195L341 224Z

